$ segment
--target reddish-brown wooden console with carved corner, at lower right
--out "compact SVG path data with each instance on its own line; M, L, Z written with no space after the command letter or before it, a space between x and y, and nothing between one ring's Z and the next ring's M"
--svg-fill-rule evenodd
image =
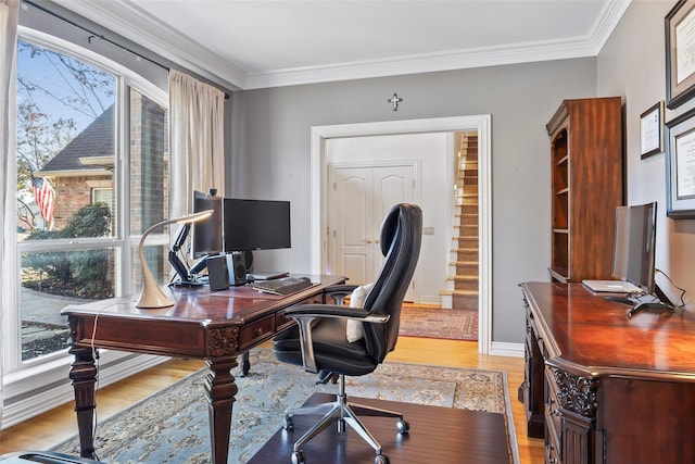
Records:
M546 463L695 462L695 316L640 312L581 284L521 285L529 436Z

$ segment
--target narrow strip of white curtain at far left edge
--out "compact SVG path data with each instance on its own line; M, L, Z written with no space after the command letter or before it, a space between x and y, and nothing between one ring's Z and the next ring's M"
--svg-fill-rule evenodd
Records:
M12 76L15 65L15 50L17 43L17 21L18 21L18 0L0 0L0 214L2 218L2 242L0 243L0 272L5 274L9 272L8 260L12 248L11 237L15 235L11 230L14 224L12 216L14 215L14 204L11 204L11 198L8 195L10 185L14 185L14 175L10 174L11 156L15 156L16 131L13 125L14 121L14 95L16 85ZM5 274L7 275L7 274ZM7 285L7 281L5 281ZM2 337L0 340L7 340L5 336L8 327L4 326L3 312L8 308L12 308L12 302L5 288L0 284L0 329ZM2 360L3 347L0 341L0 428L2 427L2 372L4 369Z

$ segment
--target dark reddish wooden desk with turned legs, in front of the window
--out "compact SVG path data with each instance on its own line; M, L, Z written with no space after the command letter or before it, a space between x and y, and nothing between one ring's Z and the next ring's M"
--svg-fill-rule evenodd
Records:
M93 347L205 360L210 368L205 396L213 462L227 463L231 409L238 390L230 369L238 365L237 355L289 328L293 322L283 316L282 310L301 302L321 302L327 287L345 280L342 276L308 277L314 286L287 297L245 286L218 292L176 290L176 304L159 310L135 308L137 297L65 308L61 313L67 316L70 352L75 356L70 378L75 388L80 455L94 456Z

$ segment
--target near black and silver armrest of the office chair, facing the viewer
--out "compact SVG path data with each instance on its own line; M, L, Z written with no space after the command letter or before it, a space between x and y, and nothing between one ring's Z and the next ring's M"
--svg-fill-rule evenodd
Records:
M300 346L304 371L318 373L312 342L312 326L316 321L327 317L338 317L361 321L372 324L386 324L390 315L369 314L362 308L340 306L337 304L299 304L285 310L285 316L296 321L300 328Z

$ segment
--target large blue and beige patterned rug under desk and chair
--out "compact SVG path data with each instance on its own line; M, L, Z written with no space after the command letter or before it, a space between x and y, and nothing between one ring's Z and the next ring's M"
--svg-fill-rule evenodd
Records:
M99 459L111 464L211 462L205 375L205 369L192 374L101 422L94 439ZM251 372L237 377L228 462L247 463L281 428L287 407L301 405L315 391L336 391L315 381L316 376L277 362L270 350L253 350ZM362 398L503 414L510 455L518 462L504 372L387 362L370 375L349 379L346 389ZM51 451L78 455L79 441L74 437Z

